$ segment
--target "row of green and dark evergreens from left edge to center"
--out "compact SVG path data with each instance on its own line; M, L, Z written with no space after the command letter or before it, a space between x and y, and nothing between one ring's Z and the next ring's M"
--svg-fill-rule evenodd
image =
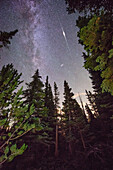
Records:
M29 147L26 143L30 138L50 148L50 152L54 152L56 157L59 154L59 133L66 140L69 154L72 154L75 134L85 148L82 134L86 126L85 115L73 98L74 93L71 92L68 83L64 81L65 100L62 112L59 112L59 91L55 82L53 95L48 76L44 85L37 69L32 76L32 81L26 83L26 90L23 90L23 87L17 90L23 82L20 81L20 77L21 74L18 74L12 64L3 66L0 71L0 151L2 154L0 163L10 162L17 155L23 154Z

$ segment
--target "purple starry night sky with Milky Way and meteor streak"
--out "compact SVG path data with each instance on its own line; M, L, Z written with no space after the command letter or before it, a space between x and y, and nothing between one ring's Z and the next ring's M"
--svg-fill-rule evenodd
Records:
M83 47L78 44L76 19L69 15L64 0L0 0L0 30L18 33L9 49L0 49L0 69L13 63L22 72L24 84L39 69L43 82L57 83L63 101L63 82L86 102L85 89L91 90L88 72L83 68ZM23 85L24 85L23 84ZM25 85L24 85L25 87Z

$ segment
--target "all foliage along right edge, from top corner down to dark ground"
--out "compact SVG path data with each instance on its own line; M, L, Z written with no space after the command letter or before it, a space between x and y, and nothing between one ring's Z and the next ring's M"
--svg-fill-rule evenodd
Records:
M97 158L95 159L93 154L91 156L89 154L91 152L88 152L89 157L92 157L92 163L89 163L88 158L86 164L89 163L89 165L87 164L86 169L110 170L113 168L113 2L66 0L66 3L69 13L76 10L82 12L76 25L79 28L79 43L85 49L84 67L90 74L94 90L93 93L86 90L89 105L86 104L85 108L89 122L89 144L93 148L91 152L95 152ZM107 148L107 152L104 147ZM90 150L89 146L88 149Z

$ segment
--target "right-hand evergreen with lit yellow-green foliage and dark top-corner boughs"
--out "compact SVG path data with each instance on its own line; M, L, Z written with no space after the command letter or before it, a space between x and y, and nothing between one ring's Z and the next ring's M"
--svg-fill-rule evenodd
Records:
M78 37L86 51L83 54L84 67L91 75L95 92L92 96L99 114L98 118L102 120L102 126L108 122L103 129L106 127L106 130L109 129L110 132L112 124L110 117L113 114L113 97L111 96L113 95L113 2L66 0L66 3L72 12L90 10L90 13L84 13L84 16L78 18L77 26L80 28Z

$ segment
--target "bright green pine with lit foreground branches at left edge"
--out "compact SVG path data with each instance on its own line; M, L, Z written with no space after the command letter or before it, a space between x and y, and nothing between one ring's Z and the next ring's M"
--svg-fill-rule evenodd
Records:
M23 106L22 88L17 90L20 76L12 64L3 66L0 71L0 165L23 154L27 145L19 139L35 128L33 123L29 123L33 105L28 112L28 106Z

